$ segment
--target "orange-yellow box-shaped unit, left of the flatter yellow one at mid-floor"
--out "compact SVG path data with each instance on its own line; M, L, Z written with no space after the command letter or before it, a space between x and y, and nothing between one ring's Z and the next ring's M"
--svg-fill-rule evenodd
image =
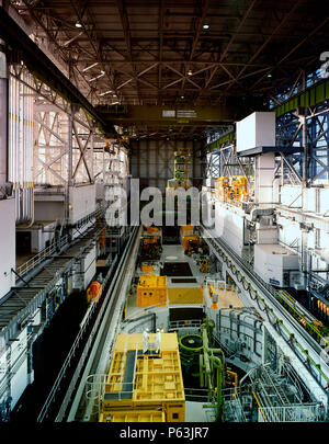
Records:
M137 307L167 304L167 276L140 276L137 285Z

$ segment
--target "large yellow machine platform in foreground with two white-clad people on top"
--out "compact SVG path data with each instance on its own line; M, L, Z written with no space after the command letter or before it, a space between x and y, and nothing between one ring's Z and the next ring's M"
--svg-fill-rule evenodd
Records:
M99 421L184 420L185 395L177 333L118 334Z

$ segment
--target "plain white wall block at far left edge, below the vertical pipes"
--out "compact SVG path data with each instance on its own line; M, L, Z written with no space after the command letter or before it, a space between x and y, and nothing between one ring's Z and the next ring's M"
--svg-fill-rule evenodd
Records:
M0 299L15 285L15 200L0 201Z

